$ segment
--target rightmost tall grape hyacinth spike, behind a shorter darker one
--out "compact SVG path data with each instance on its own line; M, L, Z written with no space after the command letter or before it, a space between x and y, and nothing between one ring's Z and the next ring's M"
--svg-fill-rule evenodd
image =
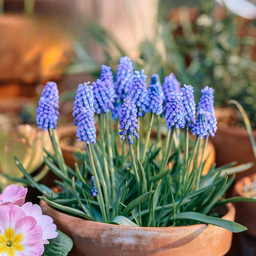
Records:
M198 102L197 110L199 111L201 108L204 110L207 121L207 129L208 133L211 137L215 136L215 132L217 131L217 120L215 117L214 110L214 89L209 86L205 86L203 90L201 90L202 95Z

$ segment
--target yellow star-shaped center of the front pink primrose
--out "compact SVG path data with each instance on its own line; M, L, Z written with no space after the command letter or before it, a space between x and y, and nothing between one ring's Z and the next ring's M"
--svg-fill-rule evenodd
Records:
M8 256L15 256L16 251L22 252L24 250L24 246L20 244L22 240L22 234L14 235L14 229L5 229L4 235L0 234L0 255L7 252Z

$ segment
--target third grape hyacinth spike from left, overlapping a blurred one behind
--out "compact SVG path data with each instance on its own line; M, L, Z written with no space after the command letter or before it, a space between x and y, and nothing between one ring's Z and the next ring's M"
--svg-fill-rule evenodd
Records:
M101 111L104 114L108 113L109 105L112 105L112 96L105 82L101 81L100 79L97 79L96 82L92 83L92 87L94 108L96 110L96 113L100 114Z

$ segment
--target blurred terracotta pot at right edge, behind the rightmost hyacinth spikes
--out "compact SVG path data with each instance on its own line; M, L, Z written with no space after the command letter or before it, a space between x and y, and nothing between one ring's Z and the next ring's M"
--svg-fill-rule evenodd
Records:
M231 118L231 113L230 115L229 113L223 114L225 111L226 108L223 110L220 108L216 109L216 118L219 125L215 136L211 137L211 141L216 150L217 166L229 164L231 162L236 162L237 165L249 162L256 164L247 130L240 127L230 127L227 124L222 123L224 118ZM233 123L235 121L232 119L230 122ZM253 136L256 140L256 131L253 131ZM249 176L254 172L255 169L253 169L253 167L243 172L238 172L236 173L236 180L239 180L244 176Z

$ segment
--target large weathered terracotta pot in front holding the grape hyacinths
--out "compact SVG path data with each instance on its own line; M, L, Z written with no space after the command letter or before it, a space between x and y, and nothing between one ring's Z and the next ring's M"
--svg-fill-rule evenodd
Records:
M231 245L232 232L213 225L184 227L128 227L82 220L54 210L41 201L43 213L50 215L58 229L73 239L70 256L151 255L221 256ZM227 204L222 218L234 220L235 208Z

